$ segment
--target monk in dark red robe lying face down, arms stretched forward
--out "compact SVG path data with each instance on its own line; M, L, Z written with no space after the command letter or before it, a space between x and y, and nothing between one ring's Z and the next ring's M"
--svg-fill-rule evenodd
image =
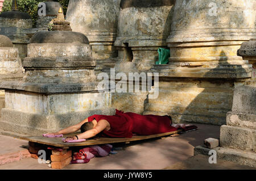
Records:
M172 127L171 124L171 116L139 115L116 110L114 116L93 115L79 124L49 135L69 134L80 129L81 134L68 137L64 142L88 139L97 134L101 134L101 137L131 138L133 133L146 136L177 131L177 128Z

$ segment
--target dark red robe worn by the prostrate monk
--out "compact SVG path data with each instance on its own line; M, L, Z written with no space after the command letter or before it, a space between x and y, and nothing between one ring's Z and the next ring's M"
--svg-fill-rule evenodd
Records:
M111 129L103 131L102 137L131 138L133 133L138 135L152 135L177 131L171 127L168 116L138 115L137 113L116 110L114 116L93 115L88 117L88 121L97 122L104 119L109 122Z

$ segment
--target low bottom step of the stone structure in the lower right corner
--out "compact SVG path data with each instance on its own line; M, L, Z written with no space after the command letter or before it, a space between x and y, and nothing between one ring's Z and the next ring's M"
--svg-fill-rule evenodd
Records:
M253 151L244 151L231 148L217 147L214 149L204 148L203 146L196 146L194 155L203 154L209 155L210 150L216 150L217 162L218 159L225 159L241 165L247 165L256 168L256 153ZM210 155L209 155L210 156Z

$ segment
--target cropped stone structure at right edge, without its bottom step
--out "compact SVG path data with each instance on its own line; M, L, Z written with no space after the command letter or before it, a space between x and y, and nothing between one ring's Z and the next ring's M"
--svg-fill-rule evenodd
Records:
M238 56L256 65L256 39L241 45ZM234 91L233 108L228 113L227 125L221 127L220 144L234 149L256 152L256 84L255 78ZM256 154L255 154L256 155ZM256 159L255 159L256 161ZM256 166L256 165L255 165Z

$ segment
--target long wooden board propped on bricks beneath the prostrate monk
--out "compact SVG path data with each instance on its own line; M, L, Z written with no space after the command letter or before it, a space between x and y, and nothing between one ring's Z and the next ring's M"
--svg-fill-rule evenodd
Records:
M86 140L84 142L77 143L66 143L63 142L63 138L47 138L47 137L23 137L23 140L27 140L30 142L36 142L38 144L55 146L59 148L64 147L73 147L73 146L90 146L90 145L102 145L102 144L113 144L118 142L131 142L131 141L139 141L139 140L147 140L150 138L158 138L164 136L170 136L171 134L176 134L181 132L181 130L175 132L168 132L162 134L154 134L150 136L133 136L132 138L96 138L95 140Z

